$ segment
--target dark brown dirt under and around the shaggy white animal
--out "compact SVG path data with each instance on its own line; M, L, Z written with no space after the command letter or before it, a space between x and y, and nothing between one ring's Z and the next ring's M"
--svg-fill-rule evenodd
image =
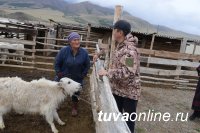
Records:
M18 76L26 81L45 77L53 80L54 73L38 72L23 69L0 67L0 77ZM89 100L89 80L86 78L86 84L81 97ZM71 116L71 100L67 98L58 110L60 118L66 122L65 126L60 126L56 122L59 133L94 133L94 123L90 105L80 101L78 117ZM5 130L0 133L51 133L51 128L40 115L19 115L11 112L4 117Z

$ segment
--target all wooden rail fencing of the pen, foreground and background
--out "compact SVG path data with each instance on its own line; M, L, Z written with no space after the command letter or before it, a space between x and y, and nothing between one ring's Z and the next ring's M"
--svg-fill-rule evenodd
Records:
M36 41L37 39L44 39L44 42ZM49 44L47 40L60 41L60 45ZM19 43L24 44L24 55L16 53L0 52L0 55L7 55L8 57L23 57L23 60L16 60L13 58L6 59L6 64L0 64L3 67L26 68L31 70L54 71L54 59L57 52L66 45L65 39L35 37L33 41L19 40L19 39L5 39L0 38L0 42ZM88 50L89 55L93 56L96 49L96 44L100 48L107 49L109 55L109 45L102 44L102 41L81 41L82 47ZM37 47L36 47L37 46ZM16 50L16 49L13 49ZM153 84L163 86L170 86L178 89L192 89L194 90L197 83L196 67L199 65L200 56L185 53L175 53L159 50L148 50L139 48L141 54L141 81L142 85ZM95 67L92 67L92 74L90 77L91 85L91 101L93 117L96 125L97 133L129 133L129 129L123 121L100 122L98 121L99 111L106 113L119 113L117 105L112 96L109 80L107 77L102 79L98 77L97 71L103 66L106 68L109 60L106 56L104 63L98 61ZM0 58L0 61L2 59ZM177 67L181 69L177 69ZM107 67L108 69L108 67ZM120 117L121 118L121 117Z

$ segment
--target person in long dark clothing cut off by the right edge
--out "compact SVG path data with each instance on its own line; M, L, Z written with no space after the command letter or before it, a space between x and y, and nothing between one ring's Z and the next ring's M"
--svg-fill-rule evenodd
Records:
M192 102L192 109L194 110L194 112L189 117L190 120L195 120L195 118L200 118L200 65L197 67L196 70L197 70L199 78L198 78L198 83L197 83L194 99Z

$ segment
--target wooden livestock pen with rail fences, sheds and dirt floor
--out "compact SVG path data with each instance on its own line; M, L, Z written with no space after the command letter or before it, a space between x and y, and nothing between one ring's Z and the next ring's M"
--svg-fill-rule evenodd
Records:
M112 29L110 27L92 26L90 24L86 26L57 24L51 28L11 23L2 23L2 25L6 26L0 27L0 42L7 42L10 45L14 43L23 44L24 49L11 48L11 50L24 51L24 55L0 52L1 56L8 56L6 59L0 58L0 61L6 61L5 64L0 64L1 77L20 76L28 81L46 77L53 80L55 76L53 69L55 55L67 44L65 37L72 31L81 35L81 46L88 50L91 60L95 51L99 48L105 49L106 56L102 58L103 60L99 60L97 63L91 62L91 72L85 79L85 89L81 94L81 98L89 101L91 105L81 101L80 116L73 118L70 116L68 99L59 109L59 114L61 114L61 118L63 117L67 121L67 126L59 127L59 130L74 133L94 133L95 131L107 133L122 130L129 132L125 123L99 122L97 119L101 110L118 112L110 91L109 80L107 77L101 79L97 75L97 71L102 67L108 69L109 54L112 49ZM156 107L158 111L167 110L172 113L190 110L191 96L197 83L195 68L200 61L200 55L196 54L195 49L200 45L200 41L156 32L132 31L132 34L139 39L138 45L141 54L140 71L143 92L138 110L147 111L153 107ZM188 45L195 45L190 54L186 53ZM23 60L12 58L16 56L23 57ZM48 125L41 117L21 117L12 113L6 116L6 121L5 123L9 125L4 132L7 133L50 132ZM29 121L31 122L30 125ZM136 130L144 133L155 133L155 125L159 125L159 123L138 122ZM198 123L189 123L189 126L185 123L179 126L177 123L167 125L162 123L162 125L159 125L159 132L167 133L167 130L170 132L188 132L188 128L191 130L189 132L192 132L198 129ZM161 127L165 128L165 131ZM177 127L179 128L176 129ZM30 131L30 129L32 130Z

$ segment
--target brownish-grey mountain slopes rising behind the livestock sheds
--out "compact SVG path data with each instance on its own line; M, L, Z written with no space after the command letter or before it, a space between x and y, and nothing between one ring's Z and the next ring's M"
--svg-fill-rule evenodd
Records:
M0 0L0 17L9 17L19 20L48 21L96 26L111 26L114 9L95 5L91 2L69 3L64 0ZM162 25L153 25L149 22L132 16L124 11L123 19L128 20L134 31L161 35L188 37L199 39L200 36L173 30Z

